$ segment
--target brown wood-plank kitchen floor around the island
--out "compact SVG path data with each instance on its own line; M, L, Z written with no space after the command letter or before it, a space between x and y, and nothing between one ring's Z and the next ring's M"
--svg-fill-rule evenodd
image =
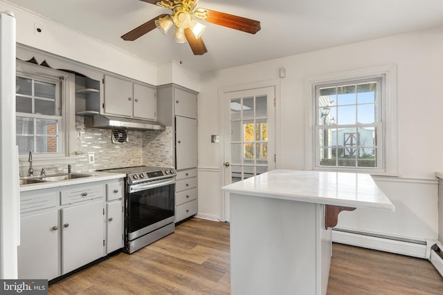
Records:
M49 294L230 294L229 267L228 223L193 218L134 254L53 283ZM334 244L327 294L443 294L443 278L428 260Z

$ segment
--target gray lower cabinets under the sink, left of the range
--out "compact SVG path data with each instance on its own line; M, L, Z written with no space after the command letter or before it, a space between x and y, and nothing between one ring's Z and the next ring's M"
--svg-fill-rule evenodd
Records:
M114 180L22 192L18 277L52 280L68 274L106 256L108 238L114 251L121 248L122 183ZM105 201L107 187L112 191L122 187L115 193L120 198ZM107 216L113 216L111 225Z

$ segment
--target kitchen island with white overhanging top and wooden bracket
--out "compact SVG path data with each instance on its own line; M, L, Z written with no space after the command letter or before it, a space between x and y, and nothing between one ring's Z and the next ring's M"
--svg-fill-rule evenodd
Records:
M395 211L371 176L273 170L230 193L231 294L326 294L331 227L356 208Z

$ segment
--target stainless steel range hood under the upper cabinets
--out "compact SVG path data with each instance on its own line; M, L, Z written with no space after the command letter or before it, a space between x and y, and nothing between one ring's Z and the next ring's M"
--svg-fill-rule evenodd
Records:
M106 129L165 130L165 126L155 121L129 119L109 115L84 116L84 126Z

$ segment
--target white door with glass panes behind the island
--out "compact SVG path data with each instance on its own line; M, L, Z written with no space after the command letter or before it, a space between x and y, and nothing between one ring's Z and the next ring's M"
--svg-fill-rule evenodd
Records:
M275 168L275 88L224 93L224 185ZM224 194L229 221L229 193Z

